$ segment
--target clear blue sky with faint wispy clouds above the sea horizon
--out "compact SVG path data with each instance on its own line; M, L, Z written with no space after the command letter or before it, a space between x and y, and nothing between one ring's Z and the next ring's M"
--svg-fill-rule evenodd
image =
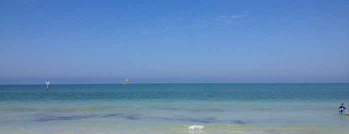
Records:
M349 82L349 0L0 0L0 84Z

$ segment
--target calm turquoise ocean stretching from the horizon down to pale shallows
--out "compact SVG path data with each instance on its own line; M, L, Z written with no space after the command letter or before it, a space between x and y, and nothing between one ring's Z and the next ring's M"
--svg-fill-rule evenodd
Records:
M0 133L348 133L348 92L349 83L0 85Z

